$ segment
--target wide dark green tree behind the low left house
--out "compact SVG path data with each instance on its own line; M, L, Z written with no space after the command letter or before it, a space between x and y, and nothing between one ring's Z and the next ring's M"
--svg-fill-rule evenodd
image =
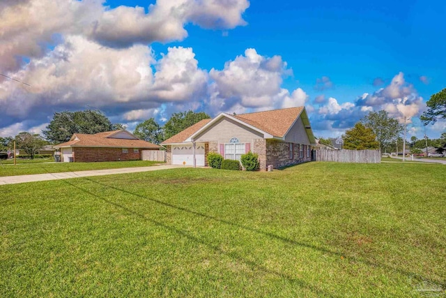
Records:
M61 143L70 140L73 133L93 134L113 130L114 124L100 111L63 111L54 113L43 135L51 142Z

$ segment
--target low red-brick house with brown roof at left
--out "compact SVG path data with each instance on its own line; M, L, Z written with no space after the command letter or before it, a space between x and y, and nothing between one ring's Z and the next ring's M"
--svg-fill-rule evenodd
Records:
M68 142L55 145L60 149L61 161L135 161L141 159L141 150L159 150L162 147L139 140L123 129L88 135L75 133Z

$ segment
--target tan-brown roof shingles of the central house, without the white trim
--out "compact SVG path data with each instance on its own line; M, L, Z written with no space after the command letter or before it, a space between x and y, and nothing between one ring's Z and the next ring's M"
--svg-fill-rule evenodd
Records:
M253 126L254 128L257 128L260 131L268 133L274 137L284 137L291 126L293 126L293 124L295 123L295 120L300 116L300 114L302 114L302 111L304 109L305 107L289 107L286 109L254 112L247 114L231 115L222 113L220 115L233 117L233 119L243 122L249 126ZM219 117L221 117L220 115ZM168 140L165 140L164 142L162 142L162 144L185 142L185 140L197 133L197 131L203 128L203 126L206 126L206 124L208 124L212 120L213 119L201 120L197 124L194 124L193 126L186 128L184 131L178 133L177 135L174 135ZM308 121L307 118L302 120ZM304 125L305 128L309 129L310 133L312 134L311 128L309 128L309 122L308 124L304 123Z

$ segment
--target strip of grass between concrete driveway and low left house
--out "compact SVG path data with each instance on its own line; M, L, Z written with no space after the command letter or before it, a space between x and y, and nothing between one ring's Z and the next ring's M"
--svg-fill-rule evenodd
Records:
M0 177L26 174L60 173L86 170L118 169L122 167L148 167L159 161L110 161L102 163L20 163L0 165Z

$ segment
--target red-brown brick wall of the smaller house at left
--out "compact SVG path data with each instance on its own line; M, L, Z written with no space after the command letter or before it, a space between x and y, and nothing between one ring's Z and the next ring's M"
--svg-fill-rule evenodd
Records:
M75 162L135 161L141 160L141 149L134 153L133 148L128 148L128 153L125 154L122 148L73 147L72 155Z

